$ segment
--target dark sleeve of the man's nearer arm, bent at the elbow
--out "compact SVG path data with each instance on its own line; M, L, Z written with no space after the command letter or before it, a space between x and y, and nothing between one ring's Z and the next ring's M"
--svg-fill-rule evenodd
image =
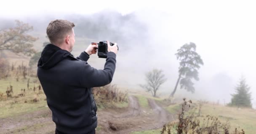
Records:
M114 52L107 53L104 70L97 70L85 62L81 70L81 85L86 88L93 88L109 84L115 72L115 64L116 54Z

